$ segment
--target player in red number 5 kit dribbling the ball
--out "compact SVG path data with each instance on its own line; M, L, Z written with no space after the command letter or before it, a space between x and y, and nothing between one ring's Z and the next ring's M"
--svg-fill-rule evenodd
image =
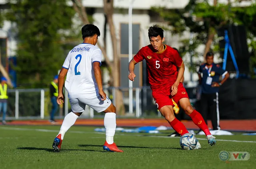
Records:
M162 116L181 136L188 133L184 124L174 116L173 99L205 133L208 143L214 145L215 137L210 133L202 115L192 108L186 89L180 83L185 70L182 58L175 49L163 44L164 30L159 26L151 26L148 37L150 45L142 47L129 63L128 78L134 81L134 66L145 59L152 96ZM179 67L178 71L176 67Z

